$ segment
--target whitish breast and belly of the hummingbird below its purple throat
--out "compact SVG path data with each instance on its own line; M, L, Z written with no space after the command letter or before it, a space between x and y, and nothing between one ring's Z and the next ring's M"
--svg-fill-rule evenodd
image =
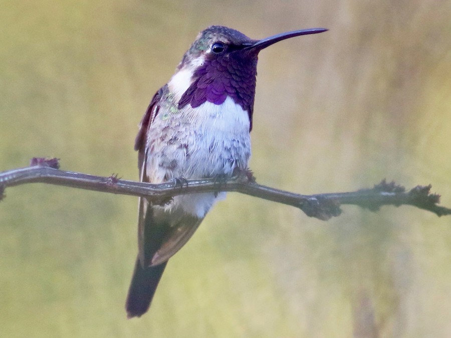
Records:
M163 108L163 107L162 107ZM245 169L251 156L248 112L230 97L221 105L205 102L193 109L160 109L150 126L146 172L150 182L178 177L204 178L231 175ZM197 217L225 193L176 196L167 208L181 207Z

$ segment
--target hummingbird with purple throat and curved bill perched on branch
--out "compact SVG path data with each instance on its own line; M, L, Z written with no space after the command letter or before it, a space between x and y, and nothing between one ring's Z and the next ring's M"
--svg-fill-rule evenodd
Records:
M223 26L200 32L139 124L140 181L230 177L248 170L259 52L325 31L298 30L262 40ZM164 205L139 198L138 257L125 305L129 318L148 310L168 259L223 198L224 192L179 195Z

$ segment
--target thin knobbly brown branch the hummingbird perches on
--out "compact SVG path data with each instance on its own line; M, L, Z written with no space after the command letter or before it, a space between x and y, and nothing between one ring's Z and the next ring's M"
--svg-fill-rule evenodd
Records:
M174 180L150 184L83 173L59 170L57 159L34 158L31 166L0 172L0 200L7 187L26 183L47 183L113 194L147 197L153 203L164 204L173 196L201 192L235 191L269 201L300 208L310 217L327 220L341 214L343 204L357 205L377 211L382 205L413 205L437 216L451 214L451 209L437 205L440 196L430 193L431 186L416 186L406 191L394 182L383 180L371 189L354 192L301 195L257 184L249 172L230 179L210 178Z

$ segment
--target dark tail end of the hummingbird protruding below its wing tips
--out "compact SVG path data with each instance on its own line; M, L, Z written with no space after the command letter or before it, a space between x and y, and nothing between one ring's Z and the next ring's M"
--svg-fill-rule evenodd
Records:
M147 312L166 263L167 261L143 268L139 258L136 259L135 271L125 302L128 318L140 317Z

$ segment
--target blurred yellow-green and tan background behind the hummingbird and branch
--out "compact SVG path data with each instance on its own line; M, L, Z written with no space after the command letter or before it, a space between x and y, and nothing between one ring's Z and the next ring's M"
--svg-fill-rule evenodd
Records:
M0 170L137 179L137 124L196 34L329 32L260 55L251 168L301 193L429 184L451 206L451 1L2 1ZM0 335L449 337L451 218L322 222L231 193L126 319L137 198L43 184L0 203Z

